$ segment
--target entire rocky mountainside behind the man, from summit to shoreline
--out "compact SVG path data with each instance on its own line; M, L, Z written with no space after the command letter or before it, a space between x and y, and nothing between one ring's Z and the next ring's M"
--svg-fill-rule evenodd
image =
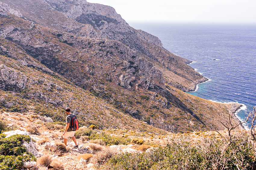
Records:
M64 121L69 106L82 125L161 134L222 129L220 115L240 107L183 92L207 79L112 7L76 0L3 2L1 112L33 108Z

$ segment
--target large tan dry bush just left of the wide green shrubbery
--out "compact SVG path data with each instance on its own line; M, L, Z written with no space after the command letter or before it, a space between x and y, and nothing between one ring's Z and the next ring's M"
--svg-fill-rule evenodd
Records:
M117 155L117 151L114 149L106 148L103 151L97 152L94 157L91 158L90 163L100 166L106 163L108 159L115 155Z

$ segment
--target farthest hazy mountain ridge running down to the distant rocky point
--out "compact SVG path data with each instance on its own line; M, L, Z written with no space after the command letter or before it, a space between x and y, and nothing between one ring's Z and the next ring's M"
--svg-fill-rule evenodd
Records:
M3 0L16 7L23 17L48 28L69 32L76 37L117 40L144 55L164 74L169 85L183 91L194 90L207 78L195 72L190 62L162 47L161 41L142 30L128 25L114 8L88 3L86 0Z

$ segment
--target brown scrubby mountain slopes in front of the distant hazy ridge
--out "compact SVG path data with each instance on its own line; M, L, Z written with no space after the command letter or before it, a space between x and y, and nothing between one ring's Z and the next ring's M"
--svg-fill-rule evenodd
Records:
M3 110L23 112L32 100L38 113L56 120L63 120L61 110L70 106L81 121L102 128L111 125L144 131L150 124L184 132L212 126L222 129L217 121L220 113L227 115L231 106L240 106L213 103L169 85L166 88L161 71L145 55L118 41L75 37L3 11L0 22L4 64L0 82L2 94L9 96L2 100ZM14 75L10 75L13 69ZM42 104L48 105L46 111Z

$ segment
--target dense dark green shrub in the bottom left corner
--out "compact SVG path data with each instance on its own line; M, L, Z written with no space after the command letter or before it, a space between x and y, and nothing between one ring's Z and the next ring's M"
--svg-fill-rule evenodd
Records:
M18 169L23 162L36 161L33 154L26 151L23 142L30 142L31 138L25 135L13 135L4 138L0 135L0 170Z

